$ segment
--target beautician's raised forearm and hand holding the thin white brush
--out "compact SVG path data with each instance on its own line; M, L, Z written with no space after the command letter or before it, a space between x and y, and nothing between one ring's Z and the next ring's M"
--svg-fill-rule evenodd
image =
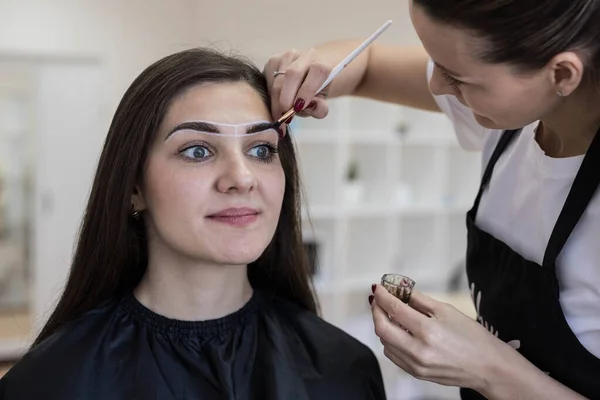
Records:
M289 50L271 57L264 73L271 92L273 116L278 118L297 99L305 106L327 75L361 40L341 40L297 52ZM426 68L428 55L422 47L373 43L367 47L327 90L327 97L356 95L430 111L440 111L429 92ZM285 75L273 77L274 71ZM327 105L323 98L306 114L323 118Z

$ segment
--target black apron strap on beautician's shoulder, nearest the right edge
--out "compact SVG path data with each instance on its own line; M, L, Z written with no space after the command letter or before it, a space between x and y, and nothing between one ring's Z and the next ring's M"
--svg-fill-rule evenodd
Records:
M548 241L542 266L554 272L556 258L567 243L600 184L600 129L592 140Z

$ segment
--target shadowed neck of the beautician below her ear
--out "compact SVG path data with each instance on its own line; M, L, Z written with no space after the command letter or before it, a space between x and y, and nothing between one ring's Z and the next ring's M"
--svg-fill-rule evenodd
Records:
M598 102L598 92L586 88L561 99L536 131L542 150L555 158L585 154L600 127Z

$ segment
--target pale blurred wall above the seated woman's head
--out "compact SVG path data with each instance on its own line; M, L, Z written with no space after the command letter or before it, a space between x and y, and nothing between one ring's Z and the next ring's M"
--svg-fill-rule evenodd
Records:
M344 17L342 17L344 13ZM107 115L139 72L193 46L268 56L338 38L414 44L406 0L0 0L0 55L91 56L106 63Z

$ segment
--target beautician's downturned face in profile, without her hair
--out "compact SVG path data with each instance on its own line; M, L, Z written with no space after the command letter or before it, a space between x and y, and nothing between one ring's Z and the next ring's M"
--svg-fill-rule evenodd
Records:
M517 129L548 115L559 96L550 73L542 69L518 75L508 65L474 58L482 42L466 31L440 24L416 4L410 5L415 30L435 63L430 90L453 95L469 107L477 122L491 129Z

